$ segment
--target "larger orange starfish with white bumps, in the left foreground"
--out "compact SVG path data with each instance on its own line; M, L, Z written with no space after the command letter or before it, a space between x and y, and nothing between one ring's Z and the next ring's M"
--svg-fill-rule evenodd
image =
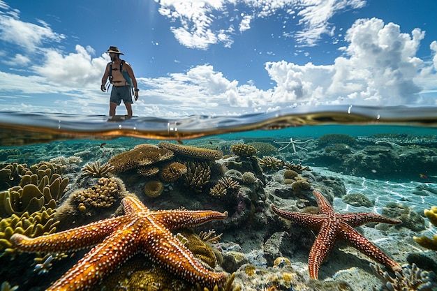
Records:
M34 239L13 234L10 241L22 251L43 253L62 253L96 245L47 290L84 290L137 253L145 253L172 274L191 283L213 288L225 281L224 272L214 272L204 267L170 230L224 219L228 216L227 212L150 211L140 200L131 196L121 202L124 216Z

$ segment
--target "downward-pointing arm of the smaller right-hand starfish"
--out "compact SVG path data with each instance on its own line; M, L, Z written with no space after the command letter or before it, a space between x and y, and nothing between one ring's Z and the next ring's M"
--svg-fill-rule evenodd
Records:
M323 223L316 241L314 241L311 251L309 252L308 269L310 278L318 278L318 270L334 247L335 240L336 232L334 230L334 223L332 223L332 221Z

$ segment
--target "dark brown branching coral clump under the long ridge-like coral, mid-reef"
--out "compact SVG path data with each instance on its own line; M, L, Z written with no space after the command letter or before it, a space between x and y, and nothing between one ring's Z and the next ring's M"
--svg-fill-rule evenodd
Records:
M211 167L205 162L188 162L186 167L185 185L193 189L195 193L201 193L203 186L208 184L209 179L211 179Z

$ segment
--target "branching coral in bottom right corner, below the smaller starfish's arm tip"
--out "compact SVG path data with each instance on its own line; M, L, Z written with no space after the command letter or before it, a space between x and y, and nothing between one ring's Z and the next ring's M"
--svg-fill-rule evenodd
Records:
M376 272L386 283L382 290L390 291L431 291L436 282L436 274L419 269L415 264L402 267L402 274L398 272L392 277L385 269L377 264L370 264L371 269ZM373 288L373 290L378 290ZM379 289L381 290L381 289Z

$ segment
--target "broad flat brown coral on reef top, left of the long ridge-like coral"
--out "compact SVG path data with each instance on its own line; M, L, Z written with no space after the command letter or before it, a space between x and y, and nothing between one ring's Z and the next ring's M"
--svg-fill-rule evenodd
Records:
M172 156L174 156L173 152L168 149L156 147L153 144L138 144L138 146L130 151L113 156L108 161L108 164L114 167L114 172L125 172L167 160L172 158Z

